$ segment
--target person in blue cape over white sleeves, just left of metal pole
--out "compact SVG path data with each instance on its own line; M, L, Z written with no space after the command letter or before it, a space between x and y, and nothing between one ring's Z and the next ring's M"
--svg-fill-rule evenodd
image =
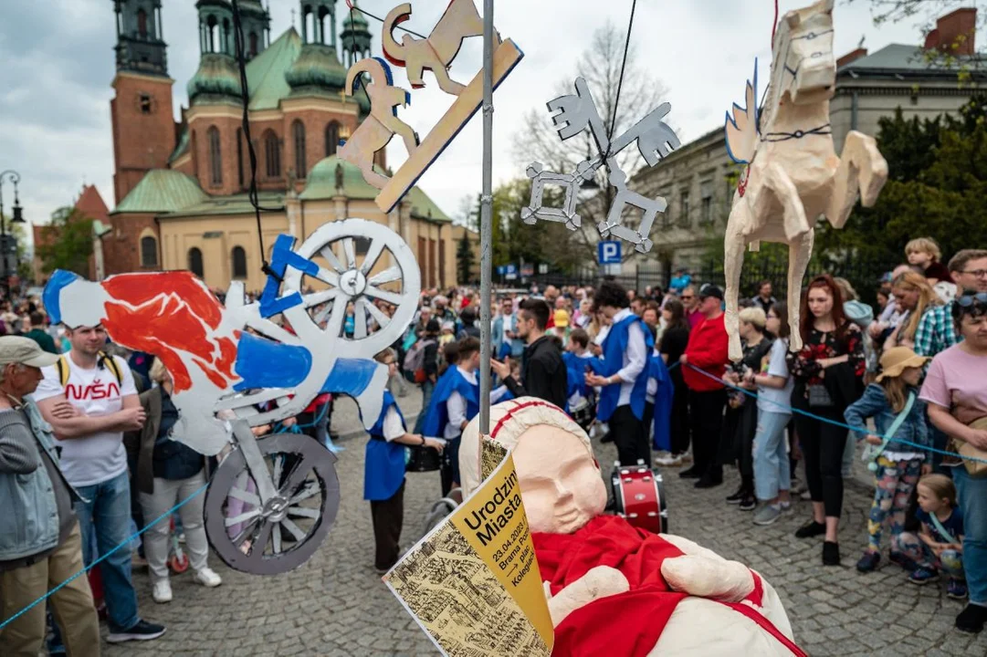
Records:
M467 337L459 341L459 362L450 364L439 377L432 399L425 411L421 429L426 436L440 436L446 441L443 454L442 495L459 486L459 438L463 429L480 412L480 340Z

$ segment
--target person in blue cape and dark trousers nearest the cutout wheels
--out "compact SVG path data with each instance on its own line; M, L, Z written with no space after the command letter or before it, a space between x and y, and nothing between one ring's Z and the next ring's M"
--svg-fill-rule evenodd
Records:
M387 365L393 377L397 355L385 349L374 359ZM405 517L405 446L422 445L442 452L444 444L434 438L408 433L405 416L391 392L384 389L384 403L377 422L370 428L363 471L363 499L370 502L373 522L374 567L390 570L401 554L401 527Z

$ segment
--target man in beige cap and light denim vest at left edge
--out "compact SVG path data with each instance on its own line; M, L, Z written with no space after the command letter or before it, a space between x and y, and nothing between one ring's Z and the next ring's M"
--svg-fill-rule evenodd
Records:
M0 619L10 619L0 629L5 655L38 655L45 606L28 606L83 568L72 510L79 494L61 472L50 426L25 399L38 388L40 368L57 360L30 338L0 337ZM75 414L67 401L52 412ZM86 578L76 577L48 603L68 654L99 655L100 621Z

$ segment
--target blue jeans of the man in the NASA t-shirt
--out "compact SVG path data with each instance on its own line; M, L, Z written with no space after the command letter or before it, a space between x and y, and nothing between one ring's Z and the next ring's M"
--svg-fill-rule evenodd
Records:
M140 621L137 616L137 592L130 578L130 482L126 473L92 486L80 486L79 494L88 502L76 502L75 513L82 529L82 560L88 566L94 560L93 534L99 555L120 544L113 554L100 562L103 591L110 615L111 631L124 631Z

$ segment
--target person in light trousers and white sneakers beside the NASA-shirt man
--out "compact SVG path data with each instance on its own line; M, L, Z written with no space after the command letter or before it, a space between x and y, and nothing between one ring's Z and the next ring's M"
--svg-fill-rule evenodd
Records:
M134 483L139 491L140 506L144 518L150 521L191 498L179 509L179 516L195 581L209 588L219 586L223 580L206 563L209 544L202 520L204 496L194 494L206 482L205 459L189 446L172 440L179 411L172 401L172 375L161 359L154 360L149 375L157 385L140 395L147 421L143 429L128 434L125 441L127 447L137 453ZM159 522L144 533L144 553L151 572L151 597L156 603L172 601L167 563L170 534L168 521Z

